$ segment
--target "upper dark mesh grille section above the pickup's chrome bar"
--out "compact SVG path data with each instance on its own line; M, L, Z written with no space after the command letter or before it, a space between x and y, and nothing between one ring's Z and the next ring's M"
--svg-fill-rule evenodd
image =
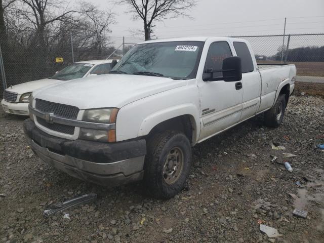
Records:
M46 100L36 99L35 108L43 112L53 112L64 118L76 119L79 108L71 105L58 104Z

